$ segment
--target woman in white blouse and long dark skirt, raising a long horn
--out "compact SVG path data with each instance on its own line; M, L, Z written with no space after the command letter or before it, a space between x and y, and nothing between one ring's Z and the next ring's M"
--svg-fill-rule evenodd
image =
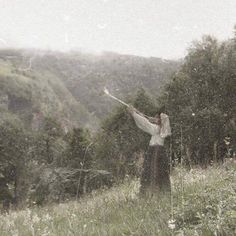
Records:
M169 161L164 149L164 139L171 135L169 117L164 113L147 117L132 106L129 112L136 125L151 135L143 164L141 194L170 192Z

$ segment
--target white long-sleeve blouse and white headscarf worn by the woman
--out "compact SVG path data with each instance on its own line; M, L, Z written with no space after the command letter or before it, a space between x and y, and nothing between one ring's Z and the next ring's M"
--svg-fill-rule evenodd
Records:
M161 114L161 127L160 125L151 123L147 118L139 115L135 111L132 112L132 116L134 117L136 125L152 136L149 142L150 146L163 146L165 138L171 135L169 117L164 113Z

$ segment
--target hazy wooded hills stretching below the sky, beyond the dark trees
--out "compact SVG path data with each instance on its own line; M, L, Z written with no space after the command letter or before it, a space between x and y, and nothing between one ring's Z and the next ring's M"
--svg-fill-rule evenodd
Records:
M0 109L33 126L50 115L65 128L93 129L117 105L102 95L105 86L122 99L140 87L156 97L179 65L115 53L0 50Z

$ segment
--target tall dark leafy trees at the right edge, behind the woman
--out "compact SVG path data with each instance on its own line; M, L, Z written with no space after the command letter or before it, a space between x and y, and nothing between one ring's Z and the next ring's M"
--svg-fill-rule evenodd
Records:
M189 49L161 102L173 128L173 152L190 164L219 161L235 140L236 44L206 36ZM233 145L231 143L231 145Z

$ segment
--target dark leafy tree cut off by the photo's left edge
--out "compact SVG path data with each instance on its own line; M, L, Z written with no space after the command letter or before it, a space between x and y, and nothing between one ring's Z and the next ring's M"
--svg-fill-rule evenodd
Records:
M13 192L8 193L15 205L21 205L25 200L28 187L27 151L29 142L23 125L19 120L9 119L0 123L0 174L2 189L8 192L8 186L13 186ZM5 199L6 200L6 199Z

